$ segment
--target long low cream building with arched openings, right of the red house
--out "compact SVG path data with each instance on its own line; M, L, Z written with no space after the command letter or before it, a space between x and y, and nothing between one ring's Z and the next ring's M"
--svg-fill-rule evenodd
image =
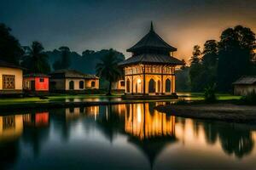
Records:
M51 91L98 89L99 77L75 70L59 70L50 74L49 87Z

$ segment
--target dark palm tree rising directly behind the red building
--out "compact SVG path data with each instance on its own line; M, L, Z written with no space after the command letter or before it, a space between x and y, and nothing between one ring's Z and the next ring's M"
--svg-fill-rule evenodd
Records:
M44 54L44 47L40 42L32 42L32 46L24 56L21 62L28 73L44 73L48 74L50 66L48 62L48 56Z

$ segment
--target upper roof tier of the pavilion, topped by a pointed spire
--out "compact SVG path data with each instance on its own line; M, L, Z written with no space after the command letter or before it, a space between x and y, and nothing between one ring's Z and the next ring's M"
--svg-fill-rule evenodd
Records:
M169 45L157 33L155 33L152 22L148 34L144 36L139 42L137 42L134 46L128 48L126 51L136 52L141 49L161 49L169 52L177 51L177 48Z

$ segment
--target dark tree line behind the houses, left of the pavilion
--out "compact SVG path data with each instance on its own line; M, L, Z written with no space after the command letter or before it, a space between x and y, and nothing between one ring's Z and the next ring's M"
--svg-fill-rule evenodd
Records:
M96 64L105 55L113 54L114 59L125 59L124 54L113 49L101 51L84 50L82 55L62 46L53 51L44 51L41 42L32 42L31 47L22 47L11 34L11 29L0 24L0 59L26 68L26 73L49 73L53 70L76 69L96 74Z

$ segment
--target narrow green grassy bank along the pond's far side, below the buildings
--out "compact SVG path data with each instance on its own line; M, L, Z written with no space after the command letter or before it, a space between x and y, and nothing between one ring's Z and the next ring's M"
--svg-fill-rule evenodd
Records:
M55 107L72 107L72 106L87 106L87 105L115 105L143 102L177 102L177 101L197 101L203 102L203 94L200 93L178 93L179 99L127 99L121 100L120 94L106 96L103 94L58 94L51 95L45 99L39 97L0 99L0 111L19 111L31 109L48 109ZM119 99L117 99L119 98ZM229 101L231 99L240 99L239 96L229 94L218 94L220 101ZM1 113L0 113L1 114Z

